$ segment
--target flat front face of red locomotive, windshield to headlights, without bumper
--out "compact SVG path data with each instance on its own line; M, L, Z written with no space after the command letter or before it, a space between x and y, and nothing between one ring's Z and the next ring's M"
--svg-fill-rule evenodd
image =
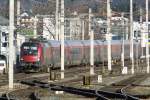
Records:
M21 47L21 64L35 65L40 61L39 44L38 43L24 43Z

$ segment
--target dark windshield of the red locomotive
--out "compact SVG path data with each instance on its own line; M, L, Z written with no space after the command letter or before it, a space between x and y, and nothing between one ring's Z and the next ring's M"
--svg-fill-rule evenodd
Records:
M24 43L22 45L22 55L37 55L38 45L35 43Z

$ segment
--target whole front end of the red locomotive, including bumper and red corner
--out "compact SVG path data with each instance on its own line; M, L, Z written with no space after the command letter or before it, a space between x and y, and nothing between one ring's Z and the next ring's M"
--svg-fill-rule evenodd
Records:
M20 62L23 68L33 69L40 67L41 58L40 43L25 42L21 46Z

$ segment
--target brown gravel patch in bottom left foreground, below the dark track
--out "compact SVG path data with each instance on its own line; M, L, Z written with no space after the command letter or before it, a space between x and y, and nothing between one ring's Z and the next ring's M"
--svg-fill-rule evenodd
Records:
M11 97L17 97L19 100L33 100L32 93L36 93L40 100L95 100L94 98L85 98L73 94L63 93L55 94L54 91L48 91L38 87L30 87L11 93Z

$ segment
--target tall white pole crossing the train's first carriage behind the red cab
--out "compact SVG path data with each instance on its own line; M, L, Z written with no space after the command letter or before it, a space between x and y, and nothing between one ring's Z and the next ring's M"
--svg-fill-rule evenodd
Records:
M61 79L64 79L64 0L61 0Z

